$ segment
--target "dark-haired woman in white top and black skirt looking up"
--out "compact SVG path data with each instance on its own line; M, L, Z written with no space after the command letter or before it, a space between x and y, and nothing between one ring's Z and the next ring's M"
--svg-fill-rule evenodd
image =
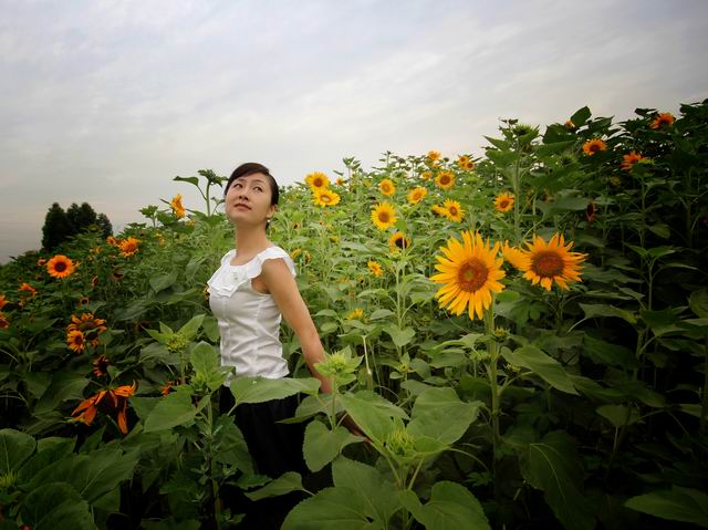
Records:
M275 179L261 164L242 164L230 176L225 194L236 245L208 281L209 305L221 335L221 364L235 366L237 377L287 376L288 363L279 340L283 316L298 335L304 361L320 380L322 391L331 392L331 382L314 367L324 360L323 349L298 290L294 264L266 233L278 209ZM228 391L221 396L226 413L233 405L233 396ZM261 474L275 478L285 471L305 471L302 424L277 423L294 416L296 399L291 396L236 408L236 423Z

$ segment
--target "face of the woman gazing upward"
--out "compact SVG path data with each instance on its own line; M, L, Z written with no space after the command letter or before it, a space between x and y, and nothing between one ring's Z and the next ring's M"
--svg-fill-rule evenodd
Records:
M233 224L261 225L275 212L270 183L262 173L237 178L226 193L226 216Z

